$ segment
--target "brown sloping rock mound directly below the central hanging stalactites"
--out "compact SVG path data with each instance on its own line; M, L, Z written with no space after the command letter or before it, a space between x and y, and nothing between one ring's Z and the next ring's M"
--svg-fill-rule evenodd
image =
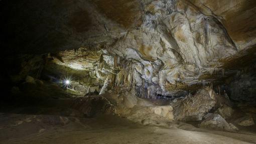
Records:
M137 97L133 89L109 90L99 96L105 97L113 104L115 114L144 125L168 126L174 120L172 106L156 106Z

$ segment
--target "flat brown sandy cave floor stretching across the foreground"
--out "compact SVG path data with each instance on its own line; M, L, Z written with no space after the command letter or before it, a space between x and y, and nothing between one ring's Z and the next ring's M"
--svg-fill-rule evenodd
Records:
M94 118L0 114L0 143L256 143L256 133L143 126L113 115ZM187 130L184 130L184 126ZM188 130L189 129L189 130ZM195 131L196 130L196 131Z

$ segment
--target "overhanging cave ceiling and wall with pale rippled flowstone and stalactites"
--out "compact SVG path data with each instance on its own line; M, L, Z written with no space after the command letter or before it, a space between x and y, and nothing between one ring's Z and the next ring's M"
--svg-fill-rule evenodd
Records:
M184 95L232 73L223 68L226 59L256 44L252 0L1 3L7 65L22 59L33 67L14 71L18 77L6 73L16 81L43 70L102 87L107 75L121 71L117 66L132 63L124 79L135 81L141 97ZM24 53L40 61L26 65Z

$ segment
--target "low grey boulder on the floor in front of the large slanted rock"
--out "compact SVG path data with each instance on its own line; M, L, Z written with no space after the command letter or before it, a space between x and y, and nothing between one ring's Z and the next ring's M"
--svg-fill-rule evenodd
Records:
M226 120L217 113L208 113L206 119L204 119L199 127L210 128L216 130L226 130L226 131L237 131L238 128L233 124L228 124Z

